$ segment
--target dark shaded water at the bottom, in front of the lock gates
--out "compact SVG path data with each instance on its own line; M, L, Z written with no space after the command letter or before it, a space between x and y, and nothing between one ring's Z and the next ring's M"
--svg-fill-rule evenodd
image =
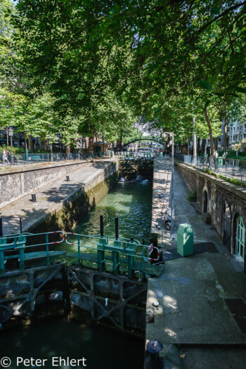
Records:
M86 325L79 321L61 319L45 321L22 330L11 330L0 335L0 359L11 358L10 369L34 368L35 365L17 364L17 357L46 358L40 368L87 369L143 369L143 339L124 336L115 331ZM86 366L52 366L53 357L86 358ZM55 359L56 360L56 359ZM56 363L56 362L55 362ZM61 362L63 364L63 361ZM39 368L37 366L37 368Z

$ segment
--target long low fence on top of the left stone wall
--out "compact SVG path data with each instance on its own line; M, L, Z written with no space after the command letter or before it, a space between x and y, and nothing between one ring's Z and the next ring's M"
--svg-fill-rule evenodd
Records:
M66 160L88 160L97 157L105 156L105 153L56 153L56 154L13 154L14 164L37 164L42 162L62 162ZM4 165L11 164L11 155L8 155L8 161L3 162L1 157L1 163Z

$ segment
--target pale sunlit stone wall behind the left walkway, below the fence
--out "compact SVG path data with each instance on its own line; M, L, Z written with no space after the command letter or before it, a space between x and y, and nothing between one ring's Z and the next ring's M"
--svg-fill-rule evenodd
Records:
M0 207L11 204L84 165L86 162L82 160L63 164L39 164L37 167L15 167L0 172Z

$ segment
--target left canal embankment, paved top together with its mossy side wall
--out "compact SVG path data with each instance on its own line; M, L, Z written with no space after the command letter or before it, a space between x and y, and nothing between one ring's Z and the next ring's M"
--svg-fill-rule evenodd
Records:
M17 229L19 230L20 217L22 231L35 233L54 229L69 231L117 183L118 162L115 159L95 160L94 165L92 163L75 165L77 167L70 166L65 169L64 174L70 175L69 182L65 180L64 175L36 190L37 202L31 201L29 193L11 205L2 207L4 234L16 233ZM67 168L70 168L70 171ZM39 173L34 171L29 175L39 176ZM56 173L53 174L53 180L55 179ZM14 183L11 188L14 192Z

